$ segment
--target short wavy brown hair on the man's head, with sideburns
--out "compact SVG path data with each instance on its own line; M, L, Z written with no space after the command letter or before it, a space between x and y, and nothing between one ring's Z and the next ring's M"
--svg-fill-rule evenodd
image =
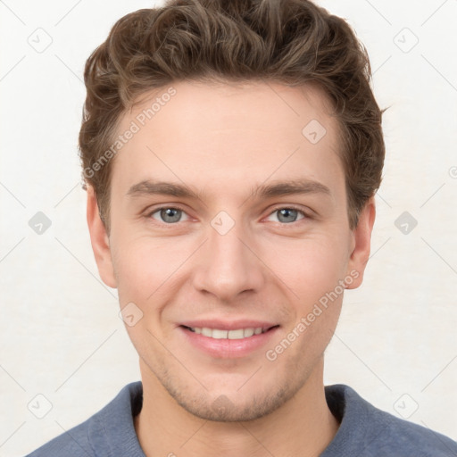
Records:
M112 160L100 161L122 114L138 96L186 79L321 87L340 126L349 225L357 226L380 186L385 145L384 110L371 91L369 56L353 29L308 0L169 0L122 17L86 62L79 132L83 188L94 187L108 233Z

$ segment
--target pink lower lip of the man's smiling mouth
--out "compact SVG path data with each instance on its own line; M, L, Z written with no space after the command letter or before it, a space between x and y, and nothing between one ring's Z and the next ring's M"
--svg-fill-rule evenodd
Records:
M179 330L184 334L190 344L194 345L200 351L212 357L233 359L244 357L249 353L253 353L256 349L261 348L276 333L278 327L270 328L270 330L259 335L240 339L204 337L202 334L195 333L185 327L179 327Z

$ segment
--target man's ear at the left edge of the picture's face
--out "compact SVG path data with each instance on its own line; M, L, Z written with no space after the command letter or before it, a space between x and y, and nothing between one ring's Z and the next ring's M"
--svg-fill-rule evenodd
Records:
M96 193L94 187L87 184L87 226L89 228L90 243L96 257L96 265L100 278L108 287L116 287L110 240L104 228L104 222L100 218Z

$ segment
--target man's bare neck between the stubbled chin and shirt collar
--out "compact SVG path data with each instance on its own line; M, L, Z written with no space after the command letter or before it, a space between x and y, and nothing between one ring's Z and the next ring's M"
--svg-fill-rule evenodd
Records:
M328 409L322 379L323 360L303 387L276 411L256 420L215 422L191 414L175 401L140 361L143 407L135 429L147 457L271 457L320 455L339 424Z

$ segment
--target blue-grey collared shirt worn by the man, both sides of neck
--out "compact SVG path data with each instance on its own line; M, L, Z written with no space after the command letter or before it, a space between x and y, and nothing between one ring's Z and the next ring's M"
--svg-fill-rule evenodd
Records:
M326 386L325 395L340 427L320 457L457 456L457 442L378 410L349 386ZM102 410L27 457L145 457L133 423L142 403L141 381L130 383Z

